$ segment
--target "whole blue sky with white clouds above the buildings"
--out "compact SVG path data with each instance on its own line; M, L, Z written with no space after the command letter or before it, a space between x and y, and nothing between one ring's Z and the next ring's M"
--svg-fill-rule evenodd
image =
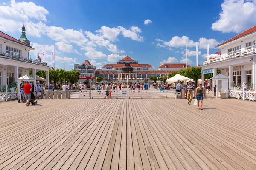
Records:
M0 2L0 31L18 39L24 21L35 48L31 58L41 54L41 45L45 45L51 66L50 45L54 44L55 67L63 68L65 46L66 70L85 59L100 67L126 55L154 68L164 62L186 63L186 45L188 63L195 66L196 44L202 64L207 44L210 54L215 53L218 43L256 22L256 0Z

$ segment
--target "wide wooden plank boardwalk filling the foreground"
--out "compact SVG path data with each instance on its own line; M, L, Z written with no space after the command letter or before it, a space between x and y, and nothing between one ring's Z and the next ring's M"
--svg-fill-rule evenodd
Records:
M256 102L204 99L0 103L1 170L256 170Z

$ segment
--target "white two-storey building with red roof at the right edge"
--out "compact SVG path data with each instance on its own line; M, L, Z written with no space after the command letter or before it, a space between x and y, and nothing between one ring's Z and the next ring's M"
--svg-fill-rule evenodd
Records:
M229 77L228 89L238 87L247 82L248 88L256 89L256 26L222 42L215 49L220 49L221 57L209 59L203 63L202 80L204 74L213 73L217 69L221 74ZM202 82L204 85L204 81ZM212 81L212 87L216 85Z

